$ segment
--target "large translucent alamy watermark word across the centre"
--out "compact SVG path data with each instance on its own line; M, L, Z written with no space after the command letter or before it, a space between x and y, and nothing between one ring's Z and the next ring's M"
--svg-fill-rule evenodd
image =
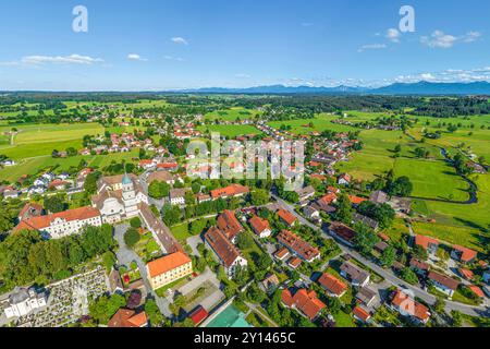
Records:
M187 177L203 179L281 179L284 190L303 188L305 142L223 141L211 133L205 141L187 146Z

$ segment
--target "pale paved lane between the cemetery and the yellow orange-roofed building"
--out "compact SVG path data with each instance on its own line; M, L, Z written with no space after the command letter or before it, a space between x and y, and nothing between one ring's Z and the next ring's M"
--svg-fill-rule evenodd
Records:
M169 302L167 299L158 297L157 293L152 290L148 277L146 275L146 264L142 261L142 258L131 249L128 249L124 242L124 232L128 229L128 225L118 225L114 226L114 237L119 243L119 250L117 252L118 261L120 264L130 266L132 262L136 262L139 268L139 273L142 275L143 281L145 284L145 288L148 294L155 299L160 312L171 318L173 317L172 312L169 310Z

